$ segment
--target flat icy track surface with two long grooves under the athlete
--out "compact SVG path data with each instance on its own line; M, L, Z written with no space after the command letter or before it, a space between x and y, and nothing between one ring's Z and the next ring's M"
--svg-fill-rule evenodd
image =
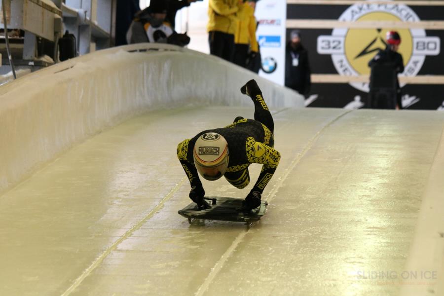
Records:
M0 196L1 295L397 295L443 131L430 111L275 110L282 159L252 228L177 211L176 146L251 108L156 111ZM244 198L226 181L208 195ZM387 284L388 283L388 284Z

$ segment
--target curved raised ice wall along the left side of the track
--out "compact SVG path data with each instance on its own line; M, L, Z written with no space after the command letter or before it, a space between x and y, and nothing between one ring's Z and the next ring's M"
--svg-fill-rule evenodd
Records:
M192 105L249 106L256 79L270 107L303 97L222 59L164 44L115 47L0 87L0 192L61 152L140 113Z

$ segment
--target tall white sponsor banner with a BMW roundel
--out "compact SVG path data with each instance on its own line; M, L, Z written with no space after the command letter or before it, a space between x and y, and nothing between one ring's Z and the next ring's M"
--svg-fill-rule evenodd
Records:
M287 1L260 0L255 15L259 22L257 38L262 56L259 75L284 85Z

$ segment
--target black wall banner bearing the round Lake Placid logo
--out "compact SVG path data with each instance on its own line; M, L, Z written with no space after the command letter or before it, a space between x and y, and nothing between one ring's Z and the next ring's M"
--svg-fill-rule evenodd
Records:
M325 2L324 2L325 3ZM354 5L289 4L288 20L337 20L342 22L420 22L444 20L444 6L407 6L399 3L359 2ZM300 29L312 74L369 75L368 62L385 48L385 34L396 30L405 72L400 76L444 75L444 30L414 28ZM287 36L293 28L287 29ZM296 29L296 28L295 28ZM299 29L299 28L298 28ZM310 107L365 108L368 82L313 83L306 105ZM444 110L443 84L402 84L406 109Z

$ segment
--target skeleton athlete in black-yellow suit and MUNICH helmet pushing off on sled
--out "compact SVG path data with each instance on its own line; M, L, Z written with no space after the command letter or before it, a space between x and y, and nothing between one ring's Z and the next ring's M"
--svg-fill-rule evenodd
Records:
M177 156L191 184L189 197L199 208L210 205L204 200L205 190L199 174L206 180L222 176L233 186L242 189L250 183L248 167L263 164L259 179L248 193L239 210L250 211L259 207L261 194L273 177L281 158L274 146L274 122L255 80L241 88L255 104L255 119L236 117L226 127L205 130L177 147Z

